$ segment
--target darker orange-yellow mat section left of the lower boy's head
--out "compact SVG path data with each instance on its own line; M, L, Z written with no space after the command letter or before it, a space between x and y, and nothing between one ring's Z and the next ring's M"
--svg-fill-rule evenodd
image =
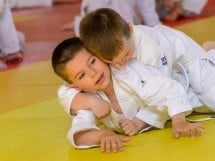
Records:
M0 73L0 113L56 97L62 83L49 61Z

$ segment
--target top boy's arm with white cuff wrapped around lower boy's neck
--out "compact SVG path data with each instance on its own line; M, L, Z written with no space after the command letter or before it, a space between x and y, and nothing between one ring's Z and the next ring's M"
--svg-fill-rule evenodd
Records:
M97 118L102 118L110 113L110 106L106 101L94 94L83 93L65 85L58 89L58 98L69 115L72 110L81 109L92 110Z

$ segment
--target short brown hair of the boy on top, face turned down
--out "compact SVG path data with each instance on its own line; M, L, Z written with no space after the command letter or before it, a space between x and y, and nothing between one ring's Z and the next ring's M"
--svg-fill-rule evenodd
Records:
M128 23L114 10L100 8L87 14L80 23L80 37L94 55L112 61L130 38Z

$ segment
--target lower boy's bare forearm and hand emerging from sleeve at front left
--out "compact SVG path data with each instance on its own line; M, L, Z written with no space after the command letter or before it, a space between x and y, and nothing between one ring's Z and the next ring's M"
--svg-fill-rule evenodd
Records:
M76 145L100 144L102 152L118 152L123 150L123 142L128 142L129 137L120 136L107 130L87 130L74 135Z

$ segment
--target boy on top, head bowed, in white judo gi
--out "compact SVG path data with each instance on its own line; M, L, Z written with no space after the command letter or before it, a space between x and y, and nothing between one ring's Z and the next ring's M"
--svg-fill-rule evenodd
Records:
M207 54L184 33L163 25L131 25L104 8L82 19L80 37L88 50L107 63L124 66L133 57L174 79L179 76L189 95L215 111L215 54Z

